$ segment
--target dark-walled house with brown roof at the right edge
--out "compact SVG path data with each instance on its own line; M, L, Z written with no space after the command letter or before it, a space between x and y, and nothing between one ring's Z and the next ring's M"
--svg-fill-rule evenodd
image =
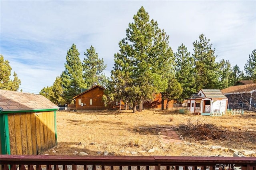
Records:
M228 97L228 108L256 108L256 83L235 85L221 90Z

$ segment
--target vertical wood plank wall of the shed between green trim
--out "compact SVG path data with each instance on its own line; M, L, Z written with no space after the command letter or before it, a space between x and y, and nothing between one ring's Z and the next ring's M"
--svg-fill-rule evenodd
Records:
M8 114L10 152L40 154L56 146L54 111Z

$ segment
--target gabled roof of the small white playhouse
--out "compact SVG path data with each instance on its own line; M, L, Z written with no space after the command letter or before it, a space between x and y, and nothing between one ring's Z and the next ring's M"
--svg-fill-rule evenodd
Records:
M205 98L215 99L215 100L222 100L222 99L228 99L220 90L218 89L200 89L205 95L205 97L199 97L198 93L194 93L190 96L189 100L200 100Z

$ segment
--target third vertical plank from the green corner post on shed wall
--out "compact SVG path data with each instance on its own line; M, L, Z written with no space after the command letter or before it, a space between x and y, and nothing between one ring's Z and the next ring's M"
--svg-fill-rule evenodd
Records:
M27 141L27 127L26 127L26 114L20 114L20 128L21 128L21 142L22 142L22 154L28 154L28 141Z

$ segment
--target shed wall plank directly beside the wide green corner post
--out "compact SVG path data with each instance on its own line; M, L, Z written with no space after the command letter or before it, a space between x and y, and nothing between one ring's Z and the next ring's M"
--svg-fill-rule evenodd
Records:
M15 142L15 124L14 124L14 114L8 115L8 126L9 126L9 137L10 137L10 151L11 154L16 155L16 142Z

